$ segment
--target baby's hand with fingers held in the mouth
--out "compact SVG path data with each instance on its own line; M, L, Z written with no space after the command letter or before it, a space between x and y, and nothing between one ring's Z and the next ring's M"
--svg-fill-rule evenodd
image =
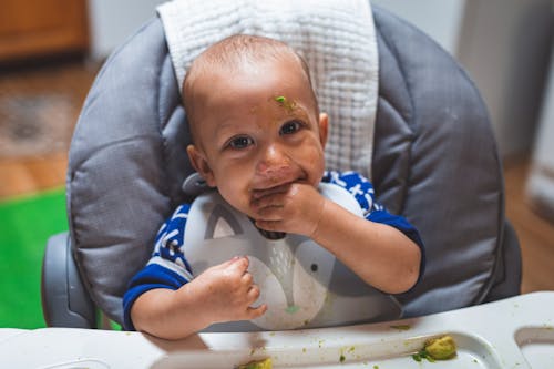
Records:
M310 237L317 229L325 202L311 185L293 183L254 194L252 207L259 228Z

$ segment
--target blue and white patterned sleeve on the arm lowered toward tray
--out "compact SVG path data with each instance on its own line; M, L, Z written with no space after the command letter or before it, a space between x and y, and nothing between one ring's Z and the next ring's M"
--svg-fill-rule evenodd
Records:
M151 259L129 283L123 296L123 327L126 330L134 330L131 307L142 294L154 288L176 290L193 279L184 253L184 234L189 209L188 204L178 206L162 225L155 238Z

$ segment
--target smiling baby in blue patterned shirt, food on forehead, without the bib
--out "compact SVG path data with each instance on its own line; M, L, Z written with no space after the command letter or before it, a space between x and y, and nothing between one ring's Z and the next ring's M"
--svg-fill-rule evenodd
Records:
M305 61L283 42L233 35L204 51L187 71L187 154L209 187L268 234L311 238L363 283L387 294L410 289L424 262L417 229L373 201L352 172L325 172L328 116L320 113ZM363 217L322 196L320 182L346 187ZM193 277L184 257L188 206L161 228L152 259L124 296L125 328L177 339L215 322L256 319L259 287L246 256ZM179 238L182 239L182 238Z

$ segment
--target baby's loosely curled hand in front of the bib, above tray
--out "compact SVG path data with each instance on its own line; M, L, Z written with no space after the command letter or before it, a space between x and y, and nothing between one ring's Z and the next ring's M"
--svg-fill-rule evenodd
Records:
M198 318L213 322L249 320L261 316L266 305L253 307L259 297L259 288L248 273L248 258L234 257L204 270L187 285L187 294L194 294Z

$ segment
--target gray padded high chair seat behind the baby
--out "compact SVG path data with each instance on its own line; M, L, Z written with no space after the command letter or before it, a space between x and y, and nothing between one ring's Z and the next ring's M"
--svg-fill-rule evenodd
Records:
M422 280L398 296L406 316L519 294L519 243L479 92L419 30L376 7L373 19L372 182L388 209L419 228L427 252ZM122 321L126 284L148 259L160 224L191 201L182 191L192 173L188 143L156 18L110 57L79 119L66 183L70 232L49 240L44 258L49 326L94 327L92 304Z

